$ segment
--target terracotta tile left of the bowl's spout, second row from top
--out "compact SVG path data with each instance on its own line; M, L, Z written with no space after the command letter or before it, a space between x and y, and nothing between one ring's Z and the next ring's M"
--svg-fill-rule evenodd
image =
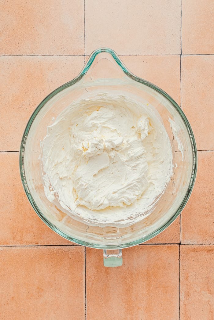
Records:
M82 56L0 57L0 150L19 150L34 109L83 65Z

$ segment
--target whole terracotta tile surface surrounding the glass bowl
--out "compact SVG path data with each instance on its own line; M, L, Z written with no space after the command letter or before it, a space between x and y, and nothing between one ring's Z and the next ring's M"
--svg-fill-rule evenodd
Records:
M214 319L213 10L211 0L0 3L0 319ZM31 113L100 46L181 105L199 150L181 221L124 249L120 268L51 231L18 170Z

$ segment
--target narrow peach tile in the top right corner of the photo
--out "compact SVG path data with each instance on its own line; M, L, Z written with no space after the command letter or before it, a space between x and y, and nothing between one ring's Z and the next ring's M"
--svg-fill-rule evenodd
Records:
M214 53L213 0L182 1L183 54Z

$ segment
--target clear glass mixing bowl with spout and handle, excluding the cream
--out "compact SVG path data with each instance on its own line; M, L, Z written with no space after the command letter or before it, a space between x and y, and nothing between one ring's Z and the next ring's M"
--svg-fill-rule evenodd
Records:
M92 227L74 220L44 193L39 155L47 126L73 101L100 92L123 93L152 105L162 118L173 152L173 174L154 210L126 228ZM176 125L174 130L169 119ZM30 117L21 140L21 180L30 204L48 227L77 244L104 249L104 265L118 266L122 264L122 248L157 236L184 209L196 177L196 150L192 128L177 103L156 85L134 76L114 51L101 48L90 55L75 79L50 93Z

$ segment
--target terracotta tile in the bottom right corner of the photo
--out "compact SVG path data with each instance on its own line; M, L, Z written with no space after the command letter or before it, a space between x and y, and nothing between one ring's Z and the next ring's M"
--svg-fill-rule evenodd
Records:
M180 247L180 320L214 319L214 246Z

